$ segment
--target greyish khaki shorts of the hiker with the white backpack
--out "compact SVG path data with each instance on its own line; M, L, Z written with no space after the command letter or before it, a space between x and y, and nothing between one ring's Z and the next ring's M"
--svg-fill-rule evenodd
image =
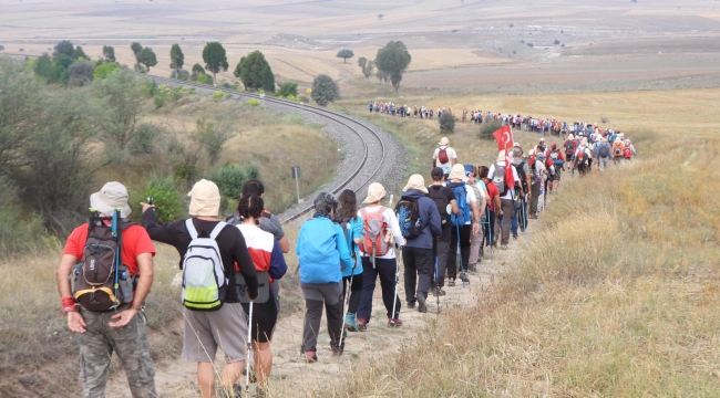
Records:
M225 363L245 360L247 316L240 303L225 303L218 311L183 308L183 358L194 363L215 362L217 348Z

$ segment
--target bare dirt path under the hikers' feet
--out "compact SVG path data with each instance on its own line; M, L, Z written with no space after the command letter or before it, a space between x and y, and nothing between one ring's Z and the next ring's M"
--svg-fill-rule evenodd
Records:
M532 227L532 226L531 226ZM321 323L320 337L318 339L318 357L316 364L305 364L300 355L302 312L297 312L282 317L277 325L272 342L274 367L271 373L271 396L272 397L313 397L317 391L328 391L328 388L342 383L342 375L363 360L392 360L393 354L402 346L415 344L415 337L420 332L425 331L435 321L442 321L443 313L470 307L477 302L477 297L487 293L494 283L501 280L501 275L512 264L516 255L516 247L526 241L526 235L521 233L517 240L511 239L508 250L495 250L493 258L485 253L485 258L479 264L479 271L470 273L471 283L457 284L455 287L445 287L448 295L441 297L441 313L438 314L438 305L434 296L428 301L428 313L421 314L416 310L404 308L401 318L404 322L402 327L390 328L385 326L385 310L382 305L381 291L378 286L373 297L373 314L363 333L350 333L346 339L346 352L342 357L335 358L331 355L328 343L328 334L325 325L325 317ZM399 295L404 297L402 287L402 269ZM179 323L177 326L178 331ZM179 338L179 337L178 337ZM222 357L220 355L218 355ZM217 363L218 369L222 363ZM195 383L195 364L188 364L178 358L174 362L165 362L156 365L156 384L161 397L198 397ZM119 392L114 397L130 397L125 385L125 377L115 374L111 379L109 390ZM255 388L251 386L250 396L255 396Z

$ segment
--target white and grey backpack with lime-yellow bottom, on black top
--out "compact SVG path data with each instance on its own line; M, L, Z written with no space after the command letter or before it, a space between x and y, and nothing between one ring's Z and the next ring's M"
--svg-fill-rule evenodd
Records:
M185 220L191 243L183 258L183 305L194 311L217 311L225 303L228 281L215 240L227 223L220 221L209 238L199 238L193 219Z

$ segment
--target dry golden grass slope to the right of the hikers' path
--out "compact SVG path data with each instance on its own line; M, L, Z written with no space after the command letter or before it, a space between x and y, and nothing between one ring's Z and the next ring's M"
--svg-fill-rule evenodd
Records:
M613 122L628 122L628 128L613 126L632 136L640 157L565 184L496 291L477 307L451 312L438 328L422 332L431 343L356 369L339 394L720 394L720 202L713 195L720 142L704 121L665 113L682 113L717 95L631 93L627 102L616 101L624 94L482 98L483 104L526 104L515 108L523 114L556 116L573 113L568 103L586 100ZM717 111L716 104L699 106ZM637 121L637 114L651 121ZM648 127L660 133L637 130ZM698 134L673 135L678 128ZM418 132L404 126L398 134L410 139ZM465 147L471 143L465 138L451 140L463 148L461 156L475 150Z

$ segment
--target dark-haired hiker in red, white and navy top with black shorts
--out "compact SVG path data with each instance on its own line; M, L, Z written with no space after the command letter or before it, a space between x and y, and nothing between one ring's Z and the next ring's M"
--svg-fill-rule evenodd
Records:
M267 273L268 282L272 283L285 275L288 265L278 241L271 233L263 231L259 226L265 211L264 206L263 198L257 195L243 196L237 206L238 213L243 217L243 223L237 228L245 238L258 277L263 273ZM263 391L261 394L267 391L268 377L272 369L270 341L278 318L275 301L275 294L268 294L268 298L264 303L256 300L253 320L250 320L255 375L257 376L257 388ZM248 307L248 304L243 304L243 308L249 314Z

